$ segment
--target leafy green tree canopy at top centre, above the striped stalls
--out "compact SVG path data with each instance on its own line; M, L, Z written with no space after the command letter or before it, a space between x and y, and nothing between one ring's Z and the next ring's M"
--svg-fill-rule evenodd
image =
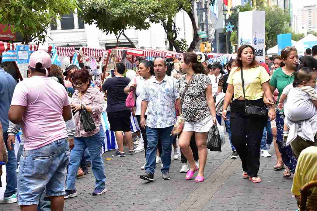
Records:
M115 34L117 46L121 34L134 46L124 31L129 27L149 29L152 11L160 6L153 0L81 0L81 4L85 8L79 13L83 22L95 23L106 34Z

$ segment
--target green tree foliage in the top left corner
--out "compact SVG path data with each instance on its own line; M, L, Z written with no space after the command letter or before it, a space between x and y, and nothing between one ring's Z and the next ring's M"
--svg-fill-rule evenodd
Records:
M1 0L0 23L22 34L22 44L43 43L52 20L74 12L77 0ZM14 24L14 25L12 25Z

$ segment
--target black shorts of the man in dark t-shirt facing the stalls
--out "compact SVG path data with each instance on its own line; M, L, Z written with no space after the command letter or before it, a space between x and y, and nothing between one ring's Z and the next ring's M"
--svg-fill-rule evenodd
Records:
M111 131L131 131L131 111L107 112Z

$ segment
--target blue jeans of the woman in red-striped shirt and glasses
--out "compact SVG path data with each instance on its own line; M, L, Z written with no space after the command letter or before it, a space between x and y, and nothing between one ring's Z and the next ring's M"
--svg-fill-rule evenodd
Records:
M103 160L101 157L100 133L89 137L75 137L74 149L70 152L68 175L66 182L67 190L74 190L76 183L77 170L81 157L86 149L91 156L91 169L96 178L95 188L104 189L106 187L106 176Z

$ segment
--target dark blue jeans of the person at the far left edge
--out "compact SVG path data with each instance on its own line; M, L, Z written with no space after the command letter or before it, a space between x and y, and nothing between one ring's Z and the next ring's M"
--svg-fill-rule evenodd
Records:
M5 165L5 169L7 171L7 186L5 187L4 197L9 197L16 193L16 155L14 153L14 145L11 144L13 150L9 150L7 140L8 140L8 133L3 133L3 140L5 146L8 150L8 163Z

